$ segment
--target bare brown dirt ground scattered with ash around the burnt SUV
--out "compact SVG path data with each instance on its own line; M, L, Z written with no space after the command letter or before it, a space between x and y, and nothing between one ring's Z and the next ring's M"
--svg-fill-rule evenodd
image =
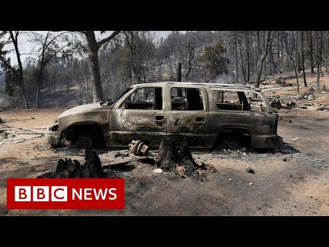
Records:
M316 89L316 78L307 79ZM287 82L295 84L293 79ZM329 86L329 78L321 78L323 84ZM269 98L280 95L282 104L297 104L297 108L278 110L278 134L284 139L278 152L193 153L195 161L217 169L206 171L204 182L173 172L155 174L151 165L130 163L121 170L124 210L6 209L6 178L35 178L56 169L60 158L84 163L84 150L53 149L37 133L44 132L64 109L1 110L6 124L0 129L10 138L1 142L0 137L0 215L329 215L329 110L317 110L319 104L329 105L329 92L315 93L315 99L297 99L295 86L265 84L262 88ZM302 86L300 95L307 90ZM127 158L117 156L118 151L99 150L98 154L101 163ZM121 154L132 156L128 150ZM255 174L245 171L247 165Z

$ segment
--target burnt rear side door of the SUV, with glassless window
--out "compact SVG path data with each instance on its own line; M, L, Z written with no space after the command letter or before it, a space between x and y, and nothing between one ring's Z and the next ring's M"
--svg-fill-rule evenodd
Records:
M191 148L208 148L208 102L202 86L168 85L167 135L180 145L182 137Z

